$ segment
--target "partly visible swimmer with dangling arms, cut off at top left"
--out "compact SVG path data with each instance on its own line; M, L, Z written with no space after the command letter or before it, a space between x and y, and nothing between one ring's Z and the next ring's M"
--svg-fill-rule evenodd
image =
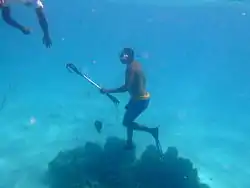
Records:
M2 18L3 20L11 25L12 27L19 29L23 34L28 35L30 34L30 29L24 27L23 25L19 24L11 17L11 8L10 5L14 3L22 3L28 7L34 7L36 10L36 15L43 31L43 44L50 48L52 45L52 41L49 36L49 29L46 17L43 12L43 4L40 0L0 0L0 9L2 10Z

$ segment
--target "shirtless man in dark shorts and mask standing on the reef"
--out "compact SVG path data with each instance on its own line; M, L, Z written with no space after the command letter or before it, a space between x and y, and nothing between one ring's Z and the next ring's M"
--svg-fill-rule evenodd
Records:
M146 91L146 78L139 62L134 60L134 51L131 48L124 48L120 54L120 61L127 66L125 71L125 84L117 89L101 89L101 93L123 93L130 94L130 100L126 105L126 112L123 117L123 125L127 128L127 143L125 149L134 148L133 131L150 133L157 144L158 127L149 128L135 122L135 119L147 109L150 101L150 94Z

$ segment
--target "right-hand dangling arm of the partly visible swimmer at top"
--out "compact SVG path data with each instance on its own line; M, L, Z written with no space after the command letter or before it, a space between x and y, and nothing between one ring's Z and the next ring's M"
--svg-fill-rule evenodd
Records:
M52 42L49 35L48 22L43 12L43 7L36 8L36 15L39 21L39 25L43 31L43 43L46 47L50 47L52 45Z

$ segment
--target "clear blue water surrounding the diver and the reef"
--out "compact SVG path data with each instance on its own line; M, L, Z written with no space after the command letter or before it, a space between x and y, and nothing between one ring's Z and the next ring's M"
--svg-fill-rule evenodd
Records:
M43 187L41 175L58 151L125 138L128 96L116 95L117 110L65 69L74 63L102 86L120 86L123 47L135 49L152 95L138 121L160 125L163 147L176 146L211 187L250 187L247 3L46 1L45 11L51 49L42 45L32 9L13 7L13 16L32 28L30 36L0 21L0 187ZM101 135L96 119L105 125ZM153 141L137 133L135 142L140 153Z

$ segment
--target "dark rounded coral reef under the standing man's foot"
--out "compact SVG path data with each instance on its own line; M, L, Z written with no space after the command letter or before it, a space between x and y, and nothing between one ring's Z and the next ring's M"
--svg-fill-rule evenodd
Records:
M50 188L208 188L175 147L162 156L155 146L148 146L136 159L135 151L124 150L124 144L111 137L104 147L88 142L60 152L48 165Z

